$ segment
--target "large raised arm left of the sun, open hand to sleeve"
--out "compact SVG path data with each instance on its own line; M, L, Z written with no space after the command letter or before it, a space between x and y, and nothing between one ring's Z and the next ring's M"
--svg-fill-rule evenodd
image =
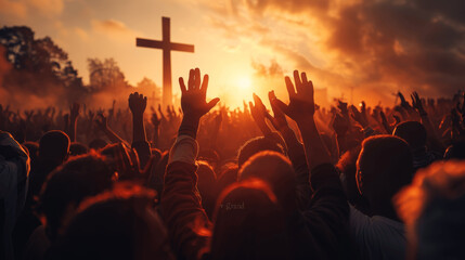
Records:
M196 188L195 158L198 144L195 139L201 117L219 99L206 102L208 76L205 75L202 81L198 68L191 69L188 87L182 78L179 79L179 84L183 117L178 139L169 154L160 206L173 249L185 259L199 259L207 251L211 223L202 208Z

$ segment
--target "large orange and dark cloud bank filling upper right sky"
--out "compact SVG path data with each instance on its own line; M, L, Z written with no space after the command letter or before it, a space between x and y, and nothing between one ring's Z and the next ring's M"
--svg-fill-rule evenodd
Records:
M463 0L224 2L202 3L212 26L281 55L284 69L312 72L334 95L353 88L358 99L386 100L397 90L443 96L463 88Z

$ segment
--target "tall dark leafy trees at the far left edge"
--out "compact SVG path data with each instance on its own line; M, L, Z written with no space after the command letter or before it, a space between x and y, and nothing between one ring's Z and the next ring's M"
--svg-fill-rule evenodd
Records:
M29 27L5 26L0 29L0 44L5 48L7 61L12 64L4 77L4 89L36 95L47 95L60 89L74 100L88 92L68 54L50 37L35 39Z

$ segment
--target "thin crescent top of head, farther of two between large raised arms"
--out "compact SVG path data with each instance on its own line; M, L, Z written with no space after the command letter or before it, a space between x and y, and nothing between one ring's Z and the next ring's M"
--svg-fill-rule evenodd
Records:
M248 140L238 151L237 165L241 169L253 155L262 151L274 151L284 154L283 146L268 138L259 136Z

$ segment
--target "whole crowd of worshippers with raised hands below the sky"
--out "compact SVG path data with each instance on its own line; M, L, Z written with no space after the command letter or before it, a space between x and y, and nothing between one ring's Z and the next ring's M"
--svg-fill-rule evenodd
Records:
M0 106L1 259L465 259L465 101ZM216 108L214 108L216 107ZM131 134L132 133L132 134Z

